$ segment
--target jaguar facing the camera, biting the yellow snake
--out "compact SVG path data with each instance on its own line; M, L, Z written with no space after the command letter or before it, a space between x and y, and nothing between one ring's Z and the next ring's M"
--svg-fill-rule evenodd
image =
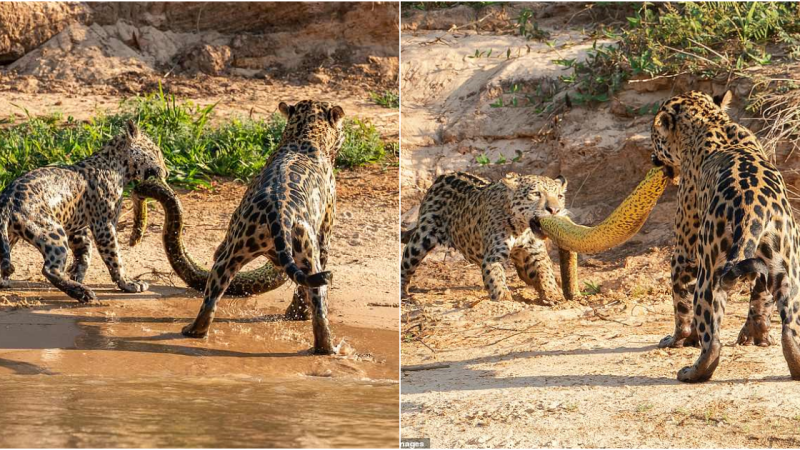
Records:
M561 300L545 241L531 231L531 221L565 215L566 190L562 176L510 173L497 182L463 172L439 176L422 200L417 224L403 235L403 294L408 294L411 277L425 256L436 245L445 245L480 264L492 300L511 298L504 269L509 257L519 277L545 303Z

